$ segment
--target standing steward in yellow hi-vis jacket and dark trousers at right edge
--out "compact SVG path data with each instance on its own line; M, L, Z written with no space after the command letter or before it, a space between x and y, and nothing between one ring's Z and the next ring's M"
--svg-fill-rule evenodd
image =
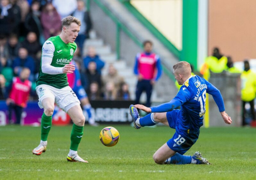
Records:
M251 106L252 120L255 120L254 99L256 94L256 73L250 70L250 64L244 61L244 71L241 74L241 99L242 99L242 125L245 122L245 103L249 102Z

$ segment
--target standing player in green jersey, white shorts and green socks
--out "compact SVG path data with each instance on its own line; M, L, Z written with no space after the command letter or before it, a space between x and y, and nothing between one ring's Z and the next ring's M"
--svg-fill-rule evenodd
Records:
M44 109L41 120L41 141L32 152L40 155L46 151L47 137L52 126L54 103L64 110L73 120L68 161L87 162L77 154L78 145L83 136L85 117L76 94L68 86L67 73L73 73L75 66L69 64L76 51L74 42L80 30L81 21L73 16L62 20L60 35L50 37L43 44L42 58L37 79L36 91L38 105Z

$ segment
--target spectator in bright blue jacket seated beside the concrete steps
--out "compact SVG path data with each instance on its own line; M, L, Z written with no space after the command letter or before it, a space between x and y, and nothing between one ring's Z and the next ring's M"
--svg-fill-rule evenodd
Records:
M88 70L89 63L95 62L96 63L96 71L101 74L101 69L104 67L105 62L103 62L99 56L96 54L94 47L88 48L88 55L83 59L84 67Z

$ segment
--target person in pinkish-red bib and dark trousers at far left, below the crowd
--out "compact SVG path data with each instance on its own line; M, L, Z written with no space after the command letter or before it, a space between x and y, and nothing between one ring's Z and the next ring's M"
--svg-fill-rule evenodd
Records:
M30 76L30 70L23 68L19 77L13 78L11 84L11 92L9 98L6 99L6 104L9 106L9 122L12 121L12 111L14 110L16 115L15 124L20 124L21 114L23 109L27 106L29 100L31 81L28 80Z

